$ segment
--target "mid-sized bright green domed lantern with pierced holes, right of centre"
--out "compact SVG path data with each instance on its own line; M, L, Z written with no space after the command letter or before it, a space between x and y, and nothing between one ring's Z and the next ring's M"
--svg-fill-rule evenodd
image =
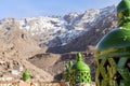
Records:
M70 86L75 86L76 84L84 83L90 84L91 83L91 74L90 74L90 68L82 61L81 54L77 54L77 61L75 64L73 64L70 69Z

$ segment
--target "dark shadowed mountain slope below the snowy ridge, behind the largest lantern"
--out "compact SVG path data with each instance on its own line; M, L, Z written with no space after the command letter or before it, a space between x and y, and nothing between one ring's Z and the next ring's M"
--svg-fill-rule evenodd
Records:
M69 53L69 52L84 52L88 51L90 46L95 46L98 42L105 35L109 30L114 29L117 25L116 13L112 12L107 16L100 16L101 20L98 20L94 26L82 32L79 37L63 46L49 47L48 53ZM58 49L57 49L58 48Z

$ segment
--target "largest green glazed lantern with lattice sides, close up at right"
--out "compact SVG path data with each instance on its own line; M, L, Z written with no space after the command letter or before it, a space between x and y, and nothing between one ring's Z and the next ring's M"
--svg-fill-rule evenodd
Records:
M118 26L96 45L96 86L130 86L130 0L117 6Z

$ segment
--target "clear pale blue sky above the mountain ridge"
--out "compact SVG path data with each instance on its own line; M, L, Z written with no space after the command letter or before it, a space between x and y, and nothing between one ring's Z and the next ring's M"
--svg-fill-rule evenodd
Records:
M0 0L0 19L80 13L89 9L103 9L119 2L120 0Z

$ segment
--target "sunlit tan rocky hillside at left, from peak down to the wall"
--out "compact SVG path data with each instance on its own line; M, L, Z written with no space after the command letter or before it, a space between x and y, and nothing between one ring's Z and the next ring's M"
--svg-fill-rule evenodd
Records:
M53 80L50 73L26 60L39 49L37 42L23 32L17 23L0 28L0 77L22 78L23 72L28 69L31 78Z

